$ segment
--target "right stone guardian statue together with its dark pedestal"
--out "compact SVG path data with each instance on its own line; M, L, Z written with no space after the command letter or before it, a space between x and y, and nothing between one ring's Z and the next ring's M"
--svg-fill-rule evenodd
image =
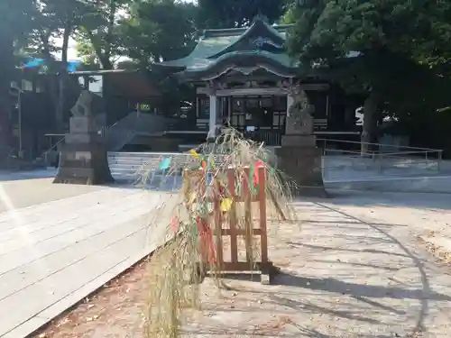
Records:
M313 134L313 113L307 94L296 88L289 107L286 132L281 148L277 149L279 168L292 178L298 187L293 194L299 196L327 196L321 173L321 151Z

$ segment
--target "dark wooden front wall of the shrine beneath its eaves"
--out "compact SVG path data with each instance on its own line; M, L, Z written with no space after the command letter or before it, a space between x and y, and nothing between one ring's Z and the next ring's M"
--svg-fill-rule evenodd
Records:
M318 135L350 132L331 118L331 97L328 84L305 84L303 90L315 105L314 128ZM292 103L290 87L234 87L216 90L211 97L208 87L197 87L196 127L209 132L210 103L216 100L216 126L230 125L247 133L255 141L280 145L285 133L286 117Z

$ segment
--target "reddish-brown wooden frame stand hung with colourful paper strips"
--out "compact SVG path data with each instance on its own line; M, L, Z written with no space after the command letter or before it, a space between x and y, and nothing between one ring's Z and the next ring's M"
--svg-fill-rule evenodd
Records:
M216 275L257 272L262 276L262 284L270 284L277 270L268 260L267 170L262 167L255 170L226 169L226 172L186 169L184 180L188 186L185 190L186 196L198 194L202 196L203 203L207 201L210 205L208 215L203 217L201 222L208 226L211 244L207 244L206 237L199 231L200 252L203 252L199 270ZM253 216L255 205L258 205L259 212ZM258 227L254 227L255 224L258 224ZM245 244L245 260L241 261L239 239ZM230 260L224 259L225 242L230 246ZM257 246L255 242L259 242L258 257L253 255L257 251L253 250ZM207 246L214 246L214 249L208 249ZM206 253L207 251L210 253ZM211 257L212 251L214 261ZM200 265L204 268L200 269Z

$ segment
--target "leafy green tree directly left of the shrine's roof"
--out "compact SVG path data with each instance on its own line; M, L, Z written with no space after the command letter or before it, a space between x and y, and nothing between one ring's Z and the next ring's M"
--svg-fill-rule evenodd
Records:
M142 67L186 56L195 44L195 11L174 0L136 2L120 27L124 54Z

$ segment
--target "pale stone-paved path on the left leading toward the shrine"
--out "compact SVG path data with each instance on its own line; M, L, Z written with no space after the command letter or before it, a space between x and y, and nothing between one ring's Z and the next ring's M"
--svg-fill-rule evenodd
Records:
M0 183L0 337L26 336L155 249L149 212L167 196Z

